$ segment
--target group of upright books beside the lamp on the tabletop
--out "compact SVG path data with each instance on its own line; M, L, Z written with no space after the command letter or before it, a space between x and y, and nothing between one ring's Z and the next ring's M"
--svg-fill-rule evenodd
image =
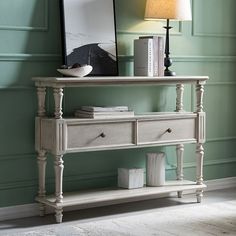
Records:
M134 75L164 76L164 37L143 36L134 40Z

